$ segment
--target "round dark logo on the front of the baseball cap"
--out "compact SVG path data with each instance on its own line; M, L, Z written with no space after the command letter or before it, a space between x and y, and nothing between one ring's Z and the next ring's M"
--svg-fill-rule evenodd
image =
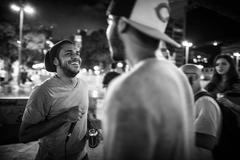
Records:
M167 3L161 3L159 4L156 8L156 14L157 17L163 22L163 23L167 23L169 20L169 6Z

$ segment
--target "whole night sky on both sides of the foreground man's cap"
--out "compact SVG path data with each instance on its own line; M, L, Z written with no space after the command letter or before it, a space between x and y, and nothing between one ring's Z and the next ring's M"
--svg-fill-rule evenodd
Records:
M18 23L18 14L9 8L11 1L14 0L1 0L0 17ZM87 29L91 32L107 27L105 11L110 0L25 1L35 8L36 14L26 15L24 23L52 25L55 39L68 38L77 29ZM183 15L183 8L179 5L183 1L185 0L170 0L174 7L172 15ZM195 5L187 12L186 36L189 40L196 44L204 44L213 40L240 39L240 12L236 0L190 1L200 5Z

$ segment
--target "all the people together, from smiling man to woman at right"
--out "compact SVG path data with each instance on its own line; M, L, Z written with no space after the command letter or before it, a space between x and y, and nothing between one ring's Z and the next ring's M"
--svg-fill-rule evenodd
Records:
M233 60L217 56L213 77L204 88L196 65L178 68L157 58L161 41L180 47L164 33L169 16L168 0L112 0L109 5L106 35L111 57L126 61L131 69L109 72L103 80L103 159L238 159L237 137L230 147L220 145L222 108L231 109L240 126L240 81ZM55 75L30 95L20 141L39 140L37 160L87 160L89 102L87 84L76 77L80 53L73 42L62 40L47 52L45 67ZM224 136L236 136L230 133Z

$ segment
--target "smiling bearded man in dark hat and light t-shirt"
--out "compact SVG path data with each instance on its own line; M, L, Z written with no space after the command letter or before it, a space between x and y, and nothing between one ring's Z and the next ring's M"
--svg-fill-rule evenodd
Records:
M22 118L20 141L39 141L36 160L87 159L88 89L77 78L81 58L74 43L62 40L45 56L56 75L32 92Z

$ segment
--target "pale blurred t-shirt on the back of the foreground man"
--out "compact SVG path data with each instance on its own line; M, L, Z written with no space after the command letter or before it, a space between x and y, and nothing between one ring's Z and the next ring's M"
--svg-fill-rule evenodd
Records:
M104 101L104 160L191 159L193 93L174 64L139 62L112 81Z

